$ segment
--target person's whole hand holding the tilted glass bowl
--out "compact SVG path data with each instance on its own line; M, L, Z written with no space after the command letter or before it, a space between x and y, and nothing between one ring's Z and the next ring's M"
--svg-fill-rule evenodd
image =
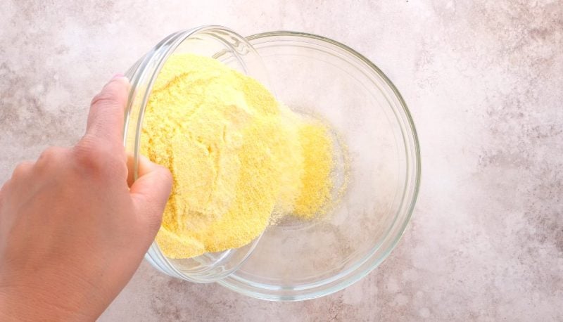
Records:
M155 238L172 176L143 159L127 183L128 91L114 77L92 100L76 146L46 149L2 186L0 321L95 320Z

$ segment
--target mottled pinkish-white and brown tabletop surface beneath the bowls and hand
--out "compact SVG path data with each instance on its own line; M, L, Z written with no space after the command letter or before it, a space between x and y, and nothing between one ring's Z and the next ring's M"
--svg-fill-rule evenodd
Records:
M402 92L422 146L415 217L384 264L319 300L144 263L102 321L563 319L561 1L192 2L0 1L0 182L75 143L96 91L170 32L298 30L357 49Z

